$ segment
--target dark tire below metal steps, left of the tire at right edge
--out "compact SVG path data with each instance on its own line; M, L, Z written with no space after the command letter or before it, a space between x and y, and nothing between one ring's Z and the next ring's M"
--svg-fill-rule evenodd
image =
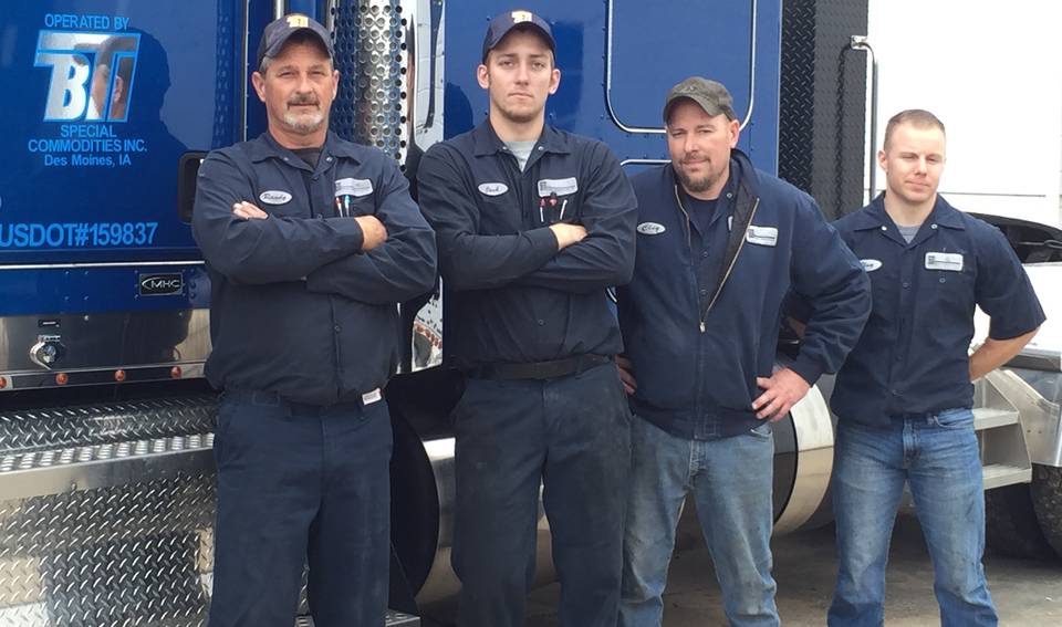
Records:
M1045 560L1054 556L1025 483L985 492L985 541L989 552L1004 557Z

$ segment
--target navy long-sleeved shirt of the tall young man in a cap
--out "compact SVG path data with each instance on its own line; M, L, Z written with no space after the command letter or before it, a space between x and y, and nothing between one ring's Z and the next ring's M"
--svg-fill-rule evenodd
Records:
M433 146L417 180L438 239L449 365L623 349L606 289L631 280L637 205L604 144L546 125L520 171L486 121ZM587 236L558 252L549 226L562 220Z

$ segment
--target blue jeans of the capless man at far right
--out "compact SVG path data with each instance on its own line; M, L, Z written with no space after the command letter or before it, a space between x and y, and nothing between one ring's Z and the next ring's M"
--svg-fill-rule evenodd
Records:
M985 492L972 411L897 419L887 429L842 420L834 454L840 564L829 624L883 624L888 544L907 482L933 560L941 625L996 625L981 565Z

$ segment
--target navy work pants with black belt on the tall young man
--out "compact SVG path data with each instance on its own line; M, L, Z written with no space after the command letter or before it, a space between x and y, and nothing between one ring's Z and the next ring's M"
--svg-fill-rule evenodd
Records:
M468 380L454 410L460 627L523 624L539 489L562 627L615 627L631 412L615 364L548 380Z

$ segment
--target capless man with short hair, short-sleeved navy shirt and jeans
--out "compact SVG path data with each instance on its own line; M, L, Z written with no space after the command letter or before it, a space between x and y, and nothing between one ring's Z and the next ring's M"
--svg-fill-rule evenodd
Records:
M933 557L944 625L996 625L985 581L985 494L971 382L1032 338L1043 310L996 228L937 194L944 125L896 114L877 163L885 192L834 222L871 276L874 309L837 377L830 625L881 625L885 563L904 484ZM972 355L974 310L991 317Z

